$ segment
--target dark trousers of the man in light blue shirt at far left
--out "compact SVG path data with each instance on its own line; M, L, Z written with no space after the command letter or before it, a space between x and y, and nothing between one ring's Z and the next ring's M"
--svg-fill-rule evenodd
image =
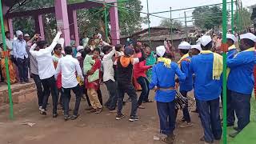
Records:
M18 74L20 82L28 82L29 59L17 58Z

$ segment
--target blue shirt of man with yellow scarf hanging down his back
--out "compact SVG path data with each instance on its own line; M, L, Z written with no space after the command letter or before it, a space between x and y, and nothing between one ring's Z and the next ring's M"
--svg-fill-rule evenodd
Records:
M200 101L210 101L219 97L222 81L213 79L214 54L195 55L190 62L190 70L195 75L194 94Z

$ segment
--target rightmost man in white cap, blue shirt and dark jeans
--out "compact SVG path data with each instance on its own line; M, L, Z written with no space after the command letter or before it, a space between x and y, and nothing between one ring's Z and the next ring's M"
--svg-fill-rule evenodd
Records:
M252 79L256 57L254 45L256 36L251 33L240 36L240 50L234 58L227 58L227 66L230 74L227 80L227 88L232 97L232 106L238 118L237 132L230 134L235 137L250 122L250 97L254 88Z

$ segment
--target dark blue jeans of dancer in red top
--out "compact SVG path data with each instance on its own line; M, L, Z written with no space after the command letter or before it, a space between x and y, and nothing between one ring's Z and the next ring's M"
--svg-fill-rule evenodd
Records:
M137 78L138 83L142 86L142 93L140 97L138 98L138 106L142 105L143 101L149 100L149 94L150 94L150 82L145 77L139 77Z

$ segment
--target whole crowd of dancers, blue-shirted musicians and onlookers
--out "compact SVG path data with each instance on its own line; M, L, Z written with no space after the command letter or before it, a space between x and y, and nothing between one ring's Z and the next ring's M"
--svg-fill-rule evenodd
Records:
M138 121L138 109L146 109L144 102L150 100L154 90L157 104L160 132L166 137L162 141L174 142L174 129L178 113L177 94L185 102L182 110L181 127L193 126L188 109L188 92L194 90L197 112L202 122L203 136L200 140L212 143L222 138L220 99L222 98L222 56L215 53L213 45L219 45L213 37L202 34L197 44L182 41L178 45L181 56L174 62L174 50L170 41L155 50L147 44L127 39L126 43L111 46L102 41L102 34L83 38L80 46L64 46L62 31L58 30L53 41L41 39L39 34L29 38L22 31L16 32L17 39L11 40L6 32L6 46L10 82L29 82L28 74L37 87L40 114L50 112L48 98L52 96L53 118L58 109L63 111L64 120L79 117L81 99L88 102L88 113L100 114L105 107L116 113L115 119L125 118L122 113L124 99L129 99L131 110L129 121ZM227 34L227 125L234 126L238 118L235 137L250 122L250 98L254 87L253 71L256 63L256 36L251 33ZM217 39L218 40L218 39ZM9 42L10 41L10 42ZM216 43L217 42L217 43ZM2 47L2 44L1 44ZM215 46L216 47L216 46ZM222 49L223 50L223 49ZM222 53L222 50L217 51ZM6 67L2 58L2 80L6 80ZM15 77L18 68L18 78ZM106 85L109 97L102 102L101 84ZM74 92L73 114L70 112L70 91ZM136 90L142 90L139 97ZM128 98L125 98L125 94ZM47 107L48 106L48 107Z

